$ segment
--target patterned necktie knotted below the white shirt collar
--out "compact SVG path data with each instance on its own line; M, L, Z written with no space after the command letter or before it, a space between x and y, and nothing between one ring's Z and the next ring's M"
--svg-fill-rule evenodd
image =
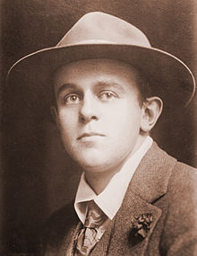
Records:
M108 221L109 219L96 203L93 200L89 201L85 223L78 234L75 256L90 255L90 252L104 234Z

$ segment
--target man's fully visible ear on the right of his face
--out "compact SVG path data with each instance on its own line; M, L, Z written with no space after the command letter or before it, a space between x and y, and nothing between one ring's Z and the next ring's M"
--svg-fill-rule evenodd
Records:
M163 102L160 98L154 96L147 98L142 105L141 132L149 133L155 126L163 110Z

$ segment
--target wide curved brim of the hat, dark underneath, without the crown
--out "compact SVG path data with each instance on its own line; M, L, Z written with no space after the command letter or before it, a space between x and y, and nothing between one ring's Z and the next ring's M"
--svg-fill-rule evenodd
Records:
M150 82L152 92L175 109L191 102L195 81L191 70L177 57L160 49L119 44L81 44L42 49L21 58L7 75L10 107L41 110L46 116L53 102L52 74L58 66L89 58L113 58L137 68ZM50 86L49 86L50 85ZM40 109L41 108L41 109Z

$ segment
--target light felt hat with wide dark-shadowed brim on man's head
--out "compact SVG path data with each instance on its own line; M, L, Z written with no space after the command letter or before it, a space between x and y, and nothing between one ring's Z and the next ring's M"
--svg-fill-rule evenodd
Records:
M161 49L131 23L107 13L87 13L55 47L22 57L7 75L10 107L45 113L53 101L52 74L58 66L88 58L113 58L137 68L163 102L175 109L191 102L195 81L188 66ZM40 108L43 111L40 111ZM49 112L49 111L48 111Z

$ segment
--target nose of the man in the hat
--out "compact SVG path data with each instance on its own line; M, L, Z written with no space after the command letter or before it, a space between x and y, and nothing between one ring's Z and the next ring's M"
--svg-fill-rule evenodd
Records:
M80 121L82 123L90 122L92 119L99 119L99 106L97 106L96 99L94 96L88 93L83 97L80 109Z

